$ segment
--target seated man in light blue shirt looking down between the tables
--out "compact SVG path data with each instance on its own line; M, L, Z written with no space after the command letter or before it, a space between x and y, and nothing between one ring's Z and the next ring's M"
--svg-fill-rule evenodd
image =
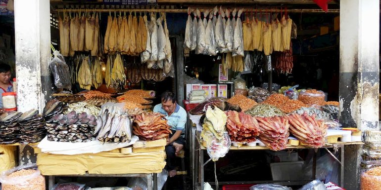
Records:
M161 104L153 108L153 112L164 114L167 123L171 127L172 135L167 140L165 152L167 154L167 169L169 176L176 175L176 155L184 148L185 144L185 123L187 122L187 112L176 103L173 92L165 91L161 95Z

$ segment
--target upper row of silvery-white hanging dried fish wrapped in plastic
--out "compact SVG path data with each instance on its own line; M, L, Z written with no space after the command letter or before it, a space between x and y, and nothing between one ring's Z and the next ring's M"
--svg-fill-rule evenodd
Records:
M243 57L243 34L240 19L242 12L243 9L240 9L237 14L237 9L230 12L229 9L223 10L222 7L217 8L216 6L213 10L205 10L203 18L201 18L200 10L195 9L192 20L192 10L188 8L184 46L195 50L196 54L216 55L217 52L233 52L233 56Z

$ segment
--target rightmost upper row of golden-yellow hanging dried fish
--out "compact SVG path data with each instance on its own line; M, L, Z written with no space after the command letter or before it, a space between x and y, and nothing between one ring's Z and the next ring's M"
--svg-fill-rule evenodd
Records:
M265 55L270 55L273 51L289 50L291 29L292 20L285 15L281 21L276 18L270 23L246 17L243 22L243 49L263 51Z

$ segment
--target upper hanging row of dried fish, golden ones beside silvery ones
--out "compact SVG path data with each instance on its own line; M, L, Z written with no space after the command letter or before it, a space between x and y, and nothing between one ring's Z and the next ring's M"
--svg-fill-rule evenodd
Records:
M163 26L164 25L164 26ZM174 76L172 49L165 13L108 16L104 37L104 52L141 57L148 69L162 69L165 76Z

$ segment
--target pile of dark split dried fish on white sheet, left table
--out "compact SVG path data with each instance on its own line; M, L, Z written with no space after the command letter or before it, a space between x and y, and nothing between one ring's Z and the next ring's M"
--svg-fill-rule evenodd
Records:
M80 143L95 140L96 118L95 115L86 112L57 114L45 125L49 141Z

